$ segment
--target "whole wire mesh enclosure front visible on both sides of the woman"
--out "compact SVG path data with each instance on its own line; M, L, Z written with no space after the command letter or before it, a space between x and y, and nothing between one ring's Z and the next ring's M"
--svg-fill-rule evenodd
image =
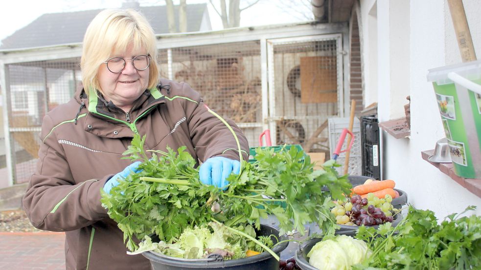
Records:
M161 77L189 83L211 109L241 127L251 147L269 127L273 145L329 154L327 119L339 115L344 95L341 35L214 42L161 48ZM81 87L79 62L5 65L15 183L35 171L46 112Z

